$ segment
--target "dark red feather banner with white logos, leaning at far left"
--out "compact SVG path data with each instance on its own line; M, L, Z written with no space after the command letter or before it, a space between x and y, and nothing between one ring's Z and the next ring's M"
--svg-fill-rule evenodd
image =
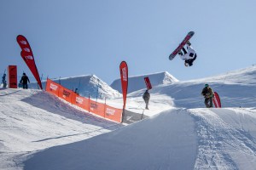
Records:
M30 45L27 42L26 37L19 35L19 36L17 36L16 39L21 48L20 55L21 55L22 59L24 59L28 68L30 69L30 71L32 71L32 74L36 78L39 87L41 89L43 89L42 83L41 83L41 80L40 80L40 77L38 74L37 65L35 63L35 59L32 54L32 48L30 48Z

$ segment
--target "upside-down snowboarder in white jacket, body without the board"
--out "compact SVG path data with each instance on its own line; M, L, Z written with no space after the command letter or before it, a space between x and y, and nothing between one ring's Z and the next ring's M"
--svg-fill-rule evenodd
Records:
M187 49L184 47L178 52L181 59L185 60L185 66L192 66L196 59L195 50L191 47L191 43L188 41L186 43Z

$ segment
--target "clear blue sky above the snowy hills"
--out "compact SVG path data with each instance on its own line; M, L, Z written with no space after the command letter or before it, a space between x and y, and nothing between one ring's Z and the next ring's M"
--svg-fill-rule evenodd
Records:
M125 60L129 76L168 71L178 80L208 77L256 63L255 0L3 0L0 73L26 71L17 35L30 42L44 78L95 74L110 84ZM170 61L188 31L198 57ZM2 76L2 75L1 75Z

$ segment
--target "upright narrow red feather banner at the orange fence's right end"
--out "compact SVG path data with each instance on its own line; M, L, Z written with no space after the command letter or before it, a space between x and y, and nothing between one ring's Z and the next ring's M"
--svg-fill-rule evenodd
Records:
M121 84L122 84L123 99L124 99L123 109L125 109L126 95L127 95L127 88L128 88L128 66L125 61L122 61L119 68L120 68Z

